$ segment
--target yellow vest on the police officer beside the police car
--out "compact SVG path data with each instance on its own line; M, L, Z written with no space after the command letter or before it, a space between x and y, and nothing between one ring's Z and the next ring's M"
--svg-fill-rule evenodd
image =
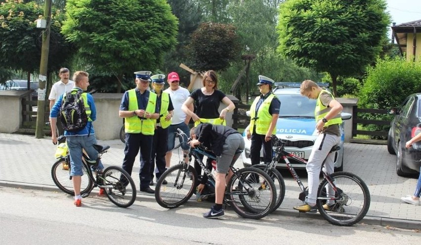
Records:
M272 102L273 98L276 96L274 94L270 94L260 105L259 109L257 110L256 116L256 106L257 102L260 100L260 97L256 97L253 101L252 106L250 107L250 132L253 134L253 128L256 128L256 134L259 135L266 135L267 130L269 129L270 123L272 122L272 115L269 113L270 103ZM272 135L276 132L276 127L272 131Z

